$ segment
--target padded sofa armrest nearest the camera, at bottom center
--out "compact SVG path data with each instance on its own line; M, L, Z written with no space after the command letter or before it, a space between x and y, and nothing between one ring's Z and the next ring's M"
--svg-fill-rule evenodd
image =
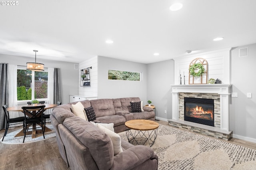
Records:
M158 157L154 154L154 150L147 146L137 145L114 156L114 162L110 170L120 170L120 167L122 167L122 170L130 170L140 166L147 160L155 160L152 162L158 167ZM152 168L152 165L148 164L148 162L143 166L151 166Z

